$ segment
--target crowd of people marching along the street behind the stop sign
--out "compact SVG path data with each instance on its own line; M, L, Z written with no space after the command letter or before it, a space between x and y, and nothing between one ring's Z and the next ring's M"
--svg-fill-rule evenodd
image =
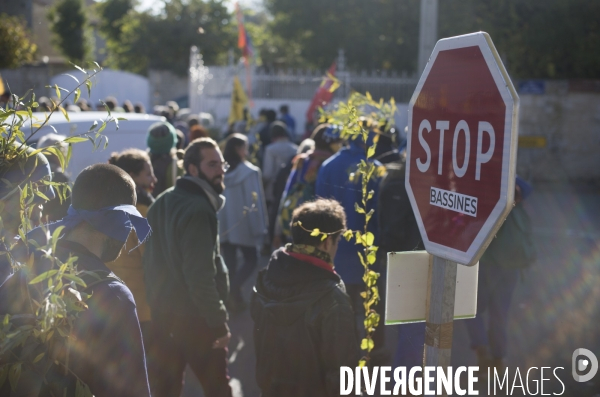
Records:
M119 111L116 100L105 103ZM130 105L125 101L123 110L138 110ZM182 123L175 103L160 111L167 121L150 127L147 150L113 153L107 164L86 168L70 201L48 193L52 200L41 213L40 222L67 226L57 255L76 255L80 269L116 275L91 287L89 308L76 320L75 375L97 397L178 396L189 365L207 396L231 396L228 319L250 306L263 395L338 395L340 367L358 364L364 332L360 246L341 238L345 230L363 229L364 216L354 209L361 182L351 177L361 161L378 167L367 210L376 213L369 230L380 247L374 270L382 298L385 253L423 249L398 134L372 128L366 143L346 141L337 126L323 123L300 140L282 106L279 119L262 110L254 125L232 125L217 142L197 117ZM375 156L367 159L365 148L376 136ZM38 145L61 139L47 135ZM34 174L39 179L66 180L52 156L32 167L41 169ZM19 167L13 171L13 181L25 180ZM517 207L529 192L518 180ZM14 206L1 193L6 227ZM16 235L15 227L4 233ZM481 260L480 277L505 281L494 289L480 280L486 295L479 300L481 311L494 311L493 331L488 340L478 316L469 320L469 332L480 365L501 366L518 268L494 244ZM261 254L270 256L268 266L251 279ZM0 313L15 313L6 291L17 275L10 263L0 262L0 270ZM248 282L255 286L250 302L243 293ZM399 338L392 357L380 324L370 365L421 365L424 325L402 326Z

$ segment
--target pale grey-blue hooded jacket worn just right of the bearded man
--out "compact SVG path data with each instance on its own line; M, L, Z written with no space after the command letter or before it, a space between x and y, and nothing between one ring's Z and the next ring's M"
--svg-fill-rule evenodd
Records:
M244 161L225 174L224 182L226 201L218 213L221 243L262 245L267 234L267 206L260 169Z

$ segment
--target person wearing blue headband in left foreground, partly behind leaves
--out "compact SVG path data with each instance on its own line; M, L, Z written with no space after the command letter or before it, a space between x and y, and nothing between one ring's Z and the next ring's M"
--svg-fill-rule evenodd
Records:
M114 165L95 164L81 171L75 180L68 215L47 225L50 232L64 226L53 252L56 258L64 263L77 257L79 271L108 275L98 277L101 282L90 283L85 289L91 294L87 308L73 321L70 347L61 356L72 373L65 374L60 365L52 372L67 390L74 392L79 379L96 397L150 396L133 295L116 276L110 276L104 264L119 256L132 231L138 244L150 234L148 222L135 208L136 200L135 183L125 171ZM47 265L42 256L36 259L33 269L41 274ZM19 273L14 273L0 288L0 313L20 314L14 310L18 306L14 302L15 289L5 288L19 283L19 278ZM32 383L30 378L23 379ZM51 395L46 390L51 385L43 382L39 395ZM0 395L5 395L3 391Z

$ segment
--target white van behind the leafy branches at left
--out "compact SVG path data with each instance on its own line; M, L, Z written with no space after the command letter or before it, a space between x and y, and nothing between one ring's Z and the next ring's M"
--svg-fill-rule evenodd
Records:
M35 123L43 121L43 113L34 113L34 117L38 117ZM114 122L108 123L102 135L108 138L108 146L104 149L104 145L100 145L96 151L91 142L80 142L73 144L73 152L71 161L66 170L71 180L75 180L77 175L85 167L96 164L106 163L112 152L120 152L129 148L137 148L146 150L146 137L150 126L159 121L165 121L162 116L154 116L151 114L138 113L112 113L113 117L124 117L127 120L119 121L119 129ZM45 125L33 138L28 142L35 146L37 141L48 133L56 133L66 136L79 135L87 132L93 125L94 121L98 122L98 126L102 125L102 121L108 117L107 112L69 112L67 121L61 112L56 112L50 117L48 125ZM50 127L50 125L52 127ZM29 128L25 125L22 128L25 137L29 136Z

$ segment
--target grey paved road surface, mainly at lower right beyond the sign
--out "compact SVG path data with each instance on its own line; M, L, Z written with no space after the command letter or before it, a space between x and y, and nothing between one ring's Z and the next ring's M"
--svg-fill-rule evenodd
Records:
M600 374L588 383L577 383L571 376L575 349L584 347L600 357L600 189L535 186L526 204L539 259L524 272L511 306L506 360L510 383L517 367L524 383L528 368L564 367L556 372L566 388L562 395L600 396ZM266 260L262 258L261 266ZM246 287L249 296L250 285ZM235 396L257 397L248 311L231 316L230 327L233 338L229 368ZM454 329L453 366L475 365L477 360L469 348L464 325L457 321ZM386 344L393 354L398 328L390 326L386 332ZM201 387L190 372L184 395L201 396ZM539 381L539 371L531 375ZM544 378L555 379L548 370ZM534 393L533 377L529 386ZM562 388L556 380L544 382L544 393L560 393ZM487 395L485 388L480 395ZM512 395L523 393L515 388Z

